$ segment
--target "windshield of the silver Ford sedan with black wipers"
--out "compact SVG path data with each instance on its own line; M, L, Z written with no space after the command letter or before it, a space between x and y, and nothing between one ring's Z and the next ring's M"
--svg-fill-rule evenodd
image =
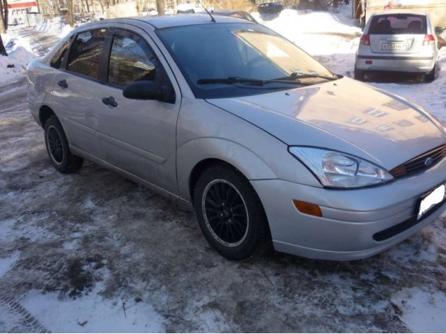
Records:
M268 93L335 78L305 51L258 24L176 26L157 34L198 98Z

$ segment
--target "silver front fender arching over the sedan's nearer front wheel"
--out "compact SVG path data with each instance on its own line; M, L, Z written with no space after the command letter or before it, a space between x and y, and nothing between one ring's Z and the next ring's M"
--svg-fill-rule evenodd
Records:
M225 161L240 170L248 180L277 179L266 161L243 145L223 138L197 138L177 148L178 190L182 198L190 200L190 175L205 159Z

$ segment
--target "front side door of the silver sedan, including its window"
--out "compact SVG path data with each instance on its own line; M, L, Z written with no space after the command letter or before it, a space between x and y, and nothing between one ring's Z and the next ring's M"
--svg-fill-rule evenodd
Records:
M171 193L176 184L176 121L180 90L173 73L145 31L117 28L107 51L104 84L98 87L98 136L105 160ZM130 100L123 87L133 81L155 81L164 100Z

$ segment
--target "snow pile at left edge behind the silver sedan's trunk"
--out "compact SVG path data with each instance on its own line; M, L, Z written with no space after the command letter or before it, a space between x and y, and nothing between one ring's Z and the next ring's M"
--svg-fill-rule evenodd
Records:
M0 86L20 81L26 76L26 66L34 56L24 47L15 47L8 51L7 57L0 56Z

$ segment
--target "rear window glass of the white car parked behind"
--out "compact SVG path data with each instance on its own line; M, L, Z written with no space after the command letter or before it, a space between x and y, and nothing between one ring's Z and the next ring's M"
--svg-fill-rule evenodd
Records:
M389 14L372 17L369 34L371 35L399 35L426 34L426 16Z

